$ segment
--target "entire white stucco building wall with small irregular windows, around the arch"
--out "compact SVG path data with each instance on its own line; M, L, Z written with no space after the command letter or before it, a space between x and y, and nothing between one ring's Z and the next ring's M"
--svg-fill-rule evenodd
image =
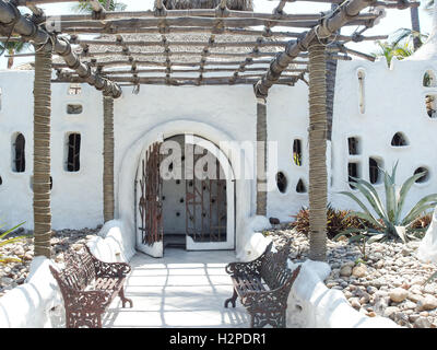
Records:
M358 108L357 70L365 74L365 110ZM361 174L369 179L369 156L380 160L385 168L399 160L398 183L420 167L429 170L429 179L415 184L406 200L409 210L423 196L436 192L437 153L434 152L437 118L429 118L425 95L437 88L424 88L426 70L437 72L437 63L423 60L397 61L389 69L385 61L339 61L335 88L332 144L328 142L329 201L336 208L354 209L354 203L339 195L350 190L347 163L358 162ZM82 85L82 94L68 95L68 84L52 85L52 226L54 229L95 228L103 223L103 125L102 95L92 86ZM33 71L1 71L0 110L0 218L8 226L26 221L32 229L32 155L33 155ZM67 104L83 105L80 115L68 115ZM251 86L149 86L138 95L125 88L115 101L115 188L116 218L123 220L126 234L134 236L133 182L140 154L151 142L177 133L197 133L220 144L221 141L255 141L256 100ZM268 218L290 221L302 206L308 203L307 194L296 192L303 179L308 187L308 96L307 85L273 86L268 98L268 138L277 142L277 170L287 178L284 194L276 187L268 196ZM390 145L398 131L405 135L409 145ZM26 170L13 173L12 136L22 132L26 139ZM68 132L80 132L81 170L64 171L64 147ZM350 155L347 138L358 137L361 153ZM303 165L293 162L293 141L299 139ZM274 148L270 144L270 150ZM222 150L236 166L233 149ZM246 160L249 162L248 160ZM276 173L269 174L274 183ZM380 191L383 184L377 185ZM238 232L245 220L255 214L255 182L238 180L237 248L241 248ZM355 208L357 209L357 208ZM241 237L241 234L240 234ZM130 243L134 246L133 238Z

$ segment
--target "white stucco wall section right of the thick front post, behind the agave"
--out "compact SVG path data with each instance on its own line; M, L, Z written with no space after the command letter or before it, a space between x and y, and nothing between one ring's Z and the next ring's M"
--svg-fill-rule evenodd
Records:
M365 72L364 114L358 108L358 69ZM351 190L347 185L347 163L351 161L359 162L362 177L369 180L370 156L379 158L383 168L390 172L399 161L399 185L417 167L429 170L429 179L414 184L410 190L404 213L422 197L437 192L437 119L429 118L425 108L425 95L437 93L437 88L423 86L423 77L428 69L437 71L437 65L432 61L398 61L394 58L390 69L386 60L374 63L362 60L339 62L332 129L331 195L335 207L359 209L336 192ZM399 131L406 137L409 145L391 145L392 137ZM361 154L349 154L349 137L359 137ZM376 187L383 194L383 180Z

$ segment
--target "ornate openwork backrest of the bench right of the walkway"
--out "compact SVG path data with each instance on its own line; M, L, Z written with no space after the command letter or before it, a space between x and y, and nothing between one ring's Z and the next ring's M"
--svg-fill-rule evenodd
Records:
M288 277L285 270L287 269L286 261L290 253L290 245L291 243L285 244L277 252L268 252L262 260L260 276L270 289L276 289Z

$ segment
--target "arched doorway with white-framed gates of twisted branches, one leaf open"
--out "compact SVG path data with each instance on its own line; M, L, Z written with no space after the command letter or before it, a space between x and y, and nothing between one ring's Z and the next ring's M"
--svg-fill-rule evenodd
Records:
M137 173L137 248L162 257L167 245L188 250L235 248L235 180L211 141L176 135L143 151Z

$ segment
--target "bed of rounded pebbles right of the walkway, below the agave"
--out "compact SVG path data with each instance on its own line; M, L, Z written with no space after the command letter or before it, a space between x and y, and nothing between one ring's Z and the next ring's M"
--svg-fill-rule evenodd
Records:
M290 258L308 258L308 238L295 230L264 231L276 246L292 241ZM324 283L341 290L351 306L375 317L389 317L408 328L437 328L437 283L424 282L437 269L415 257L420 242L366 245L367 259L356 244L328 240L327 262L331 273Z

